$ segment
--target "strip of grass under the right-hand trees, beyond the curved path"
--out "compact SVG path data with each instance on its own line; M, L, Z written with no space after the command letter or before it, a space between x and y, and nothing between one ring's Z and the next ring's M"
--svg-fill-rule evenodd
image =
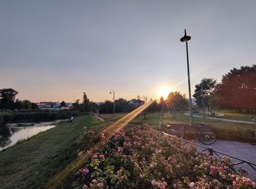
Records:
M230 112L227 110L221 110L221 111L215 111L217 114L224 114L225 116L223 118L230 119L230 120L246 120L246 121L252 121L252 117L256 117L256 114L252 113L240 113L240 112ZM195 115L202 115L203 112L195 113ZM206 113L207 115L207 113Z

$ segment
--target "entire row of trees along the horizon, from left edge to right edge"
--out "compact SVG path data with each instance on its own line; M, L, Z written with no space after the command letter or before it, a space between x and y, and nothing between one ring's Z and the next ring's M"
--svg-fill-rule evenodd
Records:
M12 88L0 89L0 109L37 109L37 104L19 99L15 100L18 91ZM209 112L212 109L246 109L247 112L253 112L256 109L256 65L241 66L240 69L233 68L227 74L222 76L222 81L212 78L203 78L195 85L195 93L198 107L204 107ZM114 101L115 112L130 112L136 107L129 104L126 99L117 99ZM65 107L64 101L61 101L61 107ZM167 99L161 98L148 107L147 111L180 111L188 109L188 101L184 94L180 92L171 92ZM79 112L99 112L112 113L113 101L105 101L102 104L96 104L90 101L86 93L83 93L83 101L75 100L72 103L72 110Z

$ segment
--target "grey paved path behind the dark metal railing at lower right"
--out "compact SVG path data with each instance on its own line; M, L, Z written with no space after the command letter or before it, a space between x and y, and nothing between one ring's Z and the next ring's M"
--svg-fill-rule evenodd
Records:
M200 142L198 144L202 145ZM214 144L204 145L205 147L212 147L214 150L225 153L227 155L232 155L236 158L241 158L244 161L249 161L250 163L256 164L256 145L252 145L245 142L234 142L234 141L224 141L217 140ZM202 147L197 147L198 151L202 151ZM220 155L222 157L222 155ZM233 163L238 161L231 159ZM235 166L236 170L239 168L245 169L248 172L248 177L256 181L256 171L252 169L248 164L242 163ZM256 166L255 166L256 169Z

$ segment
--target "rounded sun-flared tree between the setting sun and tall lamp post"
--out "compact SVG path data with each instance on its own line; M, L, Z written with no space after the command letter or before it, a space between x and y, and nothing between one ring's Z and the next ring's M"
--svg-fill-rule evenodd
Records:
M172 92L169 93L166 99L166 104L168 109L173 111L180 111L187 109L188 101L185 95L182 95L181 92Z

